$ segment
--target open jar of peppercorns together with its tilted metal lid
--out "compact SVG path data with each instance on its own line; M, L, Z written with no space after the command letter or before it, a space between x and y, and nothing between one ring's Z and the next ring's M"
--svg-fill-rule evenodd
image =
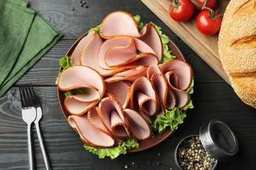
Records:
M214 169L217 161L226 161L238 152L233 131L220 120L211 120L200 128L200 135L181 140L175 149L179 169Z

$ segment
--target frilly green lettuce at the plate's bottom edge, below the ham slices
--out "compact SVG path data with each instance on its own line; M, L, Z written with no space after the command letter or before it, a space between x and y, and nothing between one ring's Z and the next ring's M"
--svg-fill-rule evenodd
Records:
M139 143L135 139L127 139L126 141L123 141L122 144L112 148L94 148L88 146L87 144L85 144L84 147L89 152L98 155L98 158L100 159L109 156L113 160L120 154L126 154L127 149L129 150L131 148L139 148Z

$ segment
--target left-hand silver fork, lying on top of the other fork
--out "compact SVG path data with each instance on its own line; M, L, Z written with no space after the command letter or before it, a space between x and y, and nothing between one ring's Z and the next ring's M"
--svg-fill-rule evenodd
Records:
M31 136L31 124L37 117L37 112L35 107L33 107L33 101L31 99L31 93L28 87L28 84L24 86L19 86L20 88L20 100L22 104L22 118L27 127L28 133L28 161L29 161L29 169L35 169L34 160L33 160L33 150L32 150L32 136Z

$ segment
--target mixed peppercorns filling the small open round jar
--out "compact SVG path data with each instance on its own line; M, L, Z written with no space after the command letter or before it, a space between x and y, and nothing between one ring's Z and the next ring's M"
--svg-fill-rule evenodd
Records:
M188 137L182 141L177 159L182 169L211 169L216 162L203 148L198 136Z

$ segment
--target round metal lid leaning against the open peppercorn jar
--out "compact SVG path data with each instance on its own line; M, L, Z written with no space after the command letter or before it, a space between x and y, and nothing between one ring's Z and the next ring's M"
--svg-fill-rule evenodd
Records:
M220 120L211 120L200 128L205 150L216 160L226 161L238 152L238 140L232 129Z

